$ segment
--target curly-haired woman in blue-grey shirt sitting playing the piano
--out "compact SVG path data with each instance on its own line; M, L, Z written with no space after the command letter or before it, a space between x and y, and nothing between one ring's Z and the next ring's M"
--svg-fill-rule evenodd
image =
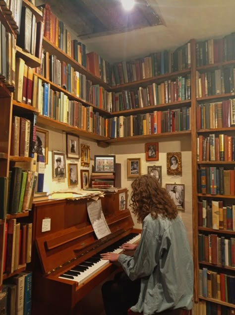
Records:
M170 309L192 308L193 265L185 227L176 205L151 175L137 177L131 185L132 212L142 222L133 256L104 253L103 259L118 261L124 273L102 287L107 315L126 315L128 308L145 315Z

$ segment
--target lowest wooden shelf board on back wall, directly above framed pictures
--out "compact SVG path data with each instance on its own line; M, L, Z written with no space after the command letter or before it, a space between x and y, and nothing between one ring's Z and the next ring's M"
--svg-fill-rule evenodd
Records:
M165 132L161 134L151 134L151 135L142 135L142 136L132 136L132 137L121 137L121 138L114 138L109 139L107 142L114 143L114 142L127 142L127 141L136 141L136 140L143 140L143 139L164 139L169 137L182 137L182 136L189 136L191 135L191 131L178 131L178 132Z

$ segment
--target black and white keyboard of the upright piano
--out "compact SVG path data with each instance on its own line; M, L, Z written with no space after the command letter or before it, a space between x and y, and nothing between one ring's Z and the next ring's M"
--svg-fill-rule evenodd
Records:
M115 242L111 246L105 248L101 252L96 255L90 257L84 262L81 262L79 265L72 267L70 270L64 272L59 276L61 279L69 279L72 281L78 282L78 284L82 284L88 278L92 277L95 273L97 273L100 269L108 265L109 260L102 260L100 254L105 252L113 252L119 254L123 251L120 246L123 243L135 243L140 239L141 234L131 233Z

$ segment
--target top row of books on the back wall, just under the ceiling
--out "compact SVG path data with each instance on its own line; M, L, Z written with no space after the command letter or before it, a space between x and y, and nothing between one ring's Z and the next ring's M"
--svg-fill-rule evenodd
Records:
M144 58L123 61L112 66L112 85L124 84L188 69L191 66L190 43L176 51L161 51Z

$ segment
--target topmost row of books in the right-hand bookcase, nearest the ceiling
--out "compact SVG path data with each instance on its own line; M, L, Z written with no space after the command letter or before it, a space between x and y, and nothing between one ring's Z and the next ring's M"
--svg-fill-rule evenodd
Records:
M235 59L235 33L196 43L196 67Z

